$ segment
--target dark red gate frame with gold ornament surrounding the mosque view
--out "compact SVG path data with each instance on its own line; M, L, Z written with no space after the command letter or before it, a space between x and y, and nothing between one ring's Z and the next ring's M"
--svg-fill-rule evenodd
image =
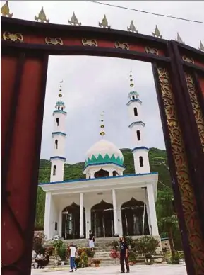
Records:
M121 30L1 18L2 274L30 274L49 55L152 63L189 275L204 274L204 54Z

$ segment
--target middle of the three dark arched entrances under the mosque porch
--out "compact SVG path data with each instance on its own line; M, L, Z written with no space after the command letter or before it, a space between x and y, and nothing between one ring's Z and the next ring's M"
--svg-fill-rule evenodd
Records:
M95 237L114 237L114 211L112 203L102 200L91 208L91 228Z

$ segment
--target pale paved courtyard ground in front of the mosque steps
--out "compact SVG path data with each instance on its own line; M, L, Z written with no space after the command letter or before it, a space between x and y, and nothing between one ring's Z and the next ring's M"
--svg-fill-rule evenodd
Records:
M32 269L32 275L67 275L69 269L68 268L58 268L54 269ZM103 274L103 275L113 275L120 274L120 266L102 266L102 267L88 267L85 269L78 269L76 274ZM186 267L184 264L176 264L176 265L153 265L153 266L145 266L145 265L137 265L131 266L131 274L133 275L186 275Z

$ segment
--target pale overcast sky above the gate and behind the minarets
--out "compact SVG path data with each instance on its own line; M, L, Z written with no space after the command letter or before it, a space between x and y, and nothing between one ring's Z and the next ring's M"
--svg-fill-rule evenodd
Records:
M204 1L104 1L133 9L203 21ZM1 1L1 6L4 1ZM151 35L157 24L163 38L176 38L177 31L187 45L198 48L204 43L204 25L170 18L127 11L89 1L9 1L14 18L34 21L41 6L50 23L68 24L75 11L83 26L98 26L104 13L114 29L126 30L133 20L139 33ZM110 57L50 56L47 75L47 94L44 107L41 158L52 156L52 111L58 100L59 82L64 79L66 104L66 162L82 162L85 152L100 140L100 113L105 112L109 141L120 148L133 147L128 129L129 81L133 71L135 88L143 101L145 145L164 149L164 138L157 103L151 64Z

